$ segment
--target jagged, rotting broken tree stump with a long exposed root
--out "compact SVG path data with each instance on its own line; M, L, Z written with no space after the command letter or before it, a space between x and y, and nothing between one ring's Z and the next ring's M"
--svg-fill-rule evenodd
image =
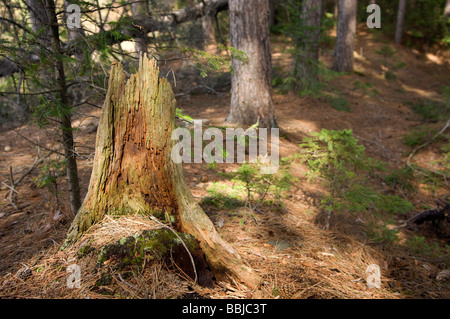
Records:
M106 214L170 215L177 230L197 238L213 270L255 287L259 277L222 240L192 197L182 164L171 159L175 106L170 84L159 78L154 60L141 57L138 72L128 81L120 64L112 66L88 193L66 245Z

